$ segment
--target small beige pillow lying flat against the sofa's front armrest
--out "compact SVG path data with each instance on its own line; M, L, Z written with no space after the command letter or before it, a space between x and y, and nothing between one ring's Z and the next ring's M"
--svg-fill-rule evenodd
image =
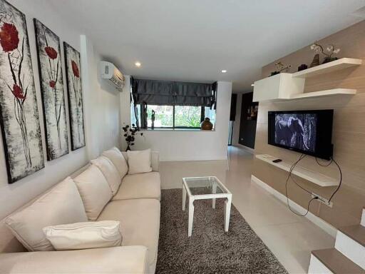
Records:
M56 250L111 248L122 243L118 220L51 225L43 232Z

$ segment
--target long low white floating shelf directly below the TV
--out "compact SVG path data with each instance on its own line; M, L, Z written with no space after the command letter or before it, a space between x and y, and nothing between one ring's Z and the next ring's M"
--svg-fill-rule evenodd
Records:
M268 154L257 154L256 158L266 163L271 164L272 166L276 166L277 168L281 168L284 171L290 171L292 167L292 163L287 163L285 161L281 161L279 163L274 163L273 160L277 159L274 156L270 156ZM335 178L331 178L322 173L317 173L314 171L310 171L307 168L303 168L302 166L295 166L292 174L303 178L309 182L315 183L318 186L338 186L339 180Z

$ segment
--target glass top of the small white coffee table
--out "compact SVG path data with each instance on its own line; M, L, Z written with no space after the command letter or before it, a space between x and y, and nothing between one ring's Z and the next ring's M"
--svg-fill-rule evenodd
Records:
M214 176L183 178L191 195L228 193L222 183Z

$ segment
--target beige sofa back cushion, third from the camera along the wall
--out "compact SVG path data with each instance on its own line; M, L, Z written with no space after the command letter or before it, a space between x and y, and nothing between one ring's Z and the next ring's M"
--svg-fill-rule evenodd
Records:
M117 193L122 178L120 177L118 169L115 168L113 163L108 158L106 158L106 156L100 156L94 160L91 160L91 163L97 166L103 173L103 176L106 178L106 181L110 186L111 193L113 195Z

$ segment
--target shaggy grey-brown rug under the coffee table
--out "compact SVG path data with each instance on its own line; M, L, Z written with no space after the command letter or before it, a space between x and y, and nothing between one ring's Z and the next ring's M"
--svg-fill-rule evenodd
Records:
M224 232L224 202L195 201L192 236L187 237L182 190L162 191L156 273L287 273L277 258L232 205L230 229Z

